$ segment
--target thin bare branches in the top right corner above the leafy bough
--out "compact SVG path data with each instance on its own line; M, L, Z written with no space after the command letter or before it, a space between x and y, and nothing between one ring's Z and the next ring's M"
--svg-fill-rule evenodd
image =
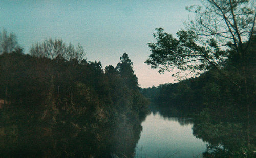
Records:
M232 47L244 58L255 35L255 0L201 0L202 6L186 7L196 14L187 27L195 31L202 44L215 39L217 46ZM243 44L245 43L246 44Z

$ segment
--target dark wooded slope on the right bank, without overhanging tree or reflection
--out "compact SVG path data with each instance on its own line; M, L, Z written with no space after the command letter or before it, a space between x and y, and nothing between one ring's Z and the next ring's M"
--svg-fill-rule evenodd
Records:
M178 83L166 83L157 87L149 87L141 90L151 102L159 107L172 107L177 110L189 111L189 114L199 114L202 110L214 110L217 117L233 115L236 118L247 118L247 103L251 112L255 112L256 89L256 38L253 37L248 48L245 67L242 69L237 54L229 50L228 58L219 64L219 70L211 67L209 71L199 77L182 80ZM247 43L245 43L246 45ZM243 85L245 72L246 86ZM245 89L247 94L244 94ZM237 112L237 115L236 113ZM244 114L241 114L244 112ZM233 116L227 117L233 119ZM251 117L254 113L250 114Z

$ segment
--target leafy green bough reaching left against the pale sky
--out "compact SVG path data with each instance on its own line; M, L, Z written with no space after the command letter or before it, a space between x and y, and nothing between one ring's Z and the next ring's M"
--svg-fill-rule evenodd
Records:
M146 63L154 69L159 67L159 72L170 71L174 67L191 72L207 70L210 65L217 66L214 61L221 61L220 58L226 55L225 51L220 50L215 44L210 44L209 47L197 44L199 38L194 31L179 31L179 39L176 39L171 34L163 32L162 28L156 30L157 33L153 36L157 43L148 43L152 54Z

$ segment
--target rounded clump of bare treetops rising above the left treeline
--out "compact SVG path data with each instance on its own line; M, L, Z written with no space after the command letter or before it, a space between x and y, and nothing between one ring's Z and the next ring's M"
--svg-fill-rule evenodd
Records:
M75 48L71 43L66 46L62 39L52 40L51 38L42 43L33 44L29 53L35 57L46 57L50 59L58 57L66 60L76 59L78 62L81 62L86 55L81 44L78 44Z

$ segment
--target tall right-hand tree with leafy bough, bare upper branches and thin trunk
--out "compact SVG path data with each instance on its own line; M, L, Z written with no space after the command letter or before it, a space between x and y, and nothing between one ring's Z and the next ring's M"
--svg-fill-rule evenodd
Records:
M250 145L250 106L254 102L255 77L251 75L248 56L254 54L256 7L254 0L202 0L201 6L187 7L196 14L190 20L187 30L177 32L178 39L156 29L153 36L156 43L148 43L151 55L145 63L160 72L170 71L174 67L180 72L200 73L211 67L237 87L242 104L247 107L247 142ZM225 62L236 57L232 71L226 71ZM236 74L237 78L231 78ZM185 75L186 76L186 75ZM182 76L183 77L183 76ZM248 83L248 81L251 81ZM251 86L253 85L253 86ZM249 101L252 99L252 101Z

